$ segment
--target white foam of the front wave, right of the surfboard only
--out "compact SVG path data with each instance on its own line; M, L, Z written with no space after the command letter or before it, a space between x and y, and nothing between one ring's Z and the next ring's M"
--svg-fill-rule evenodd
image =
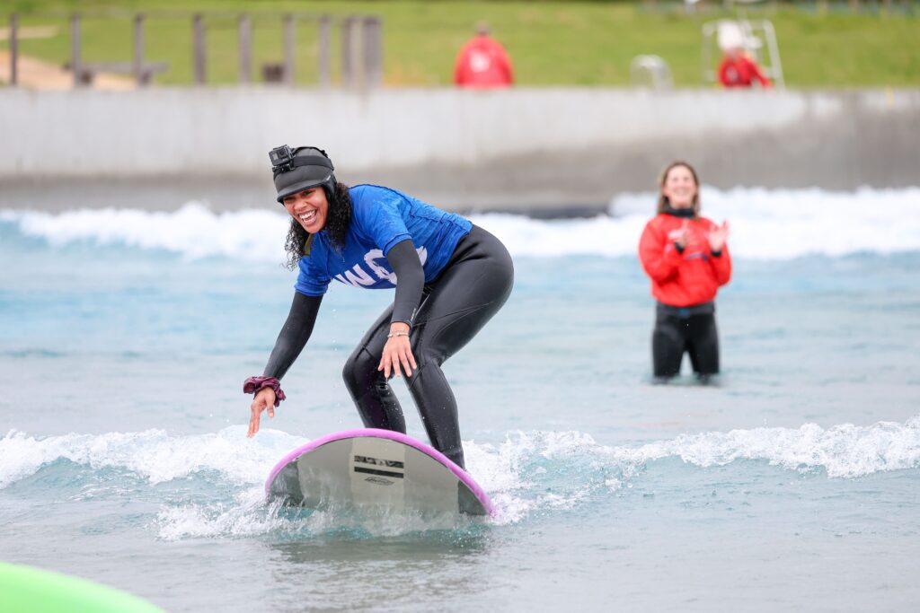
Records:
M496 505L496 523L506 524L538 510L572 508L602 487L617 490L643 467L668 458L701 468L765 461L792 471L823 470L830 478L915 469L920 467L920 416L904 424L707 432L639 447L603 446L580 432L522 432L499 446L464 447L472 474ZM568 478L547 487L551 473L560 470Z

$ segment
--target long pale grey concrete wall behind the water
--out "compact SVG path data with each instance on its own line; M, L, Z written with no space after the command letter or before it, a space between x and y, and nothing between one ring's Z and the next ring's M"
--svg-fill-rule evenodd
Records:
M322 146L347 182L455 209L591 210L675 158L719 187L901 187L920 184L920 90L6 89L0 205L81 185L99 200L223 187L246 206L285 142Z

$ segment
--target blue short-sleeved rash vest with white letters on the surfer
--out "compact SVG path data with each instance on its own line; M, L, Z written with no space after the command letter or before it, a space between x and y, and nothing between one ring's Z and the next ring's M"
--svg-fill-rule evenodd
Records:
M310 255L298 265L294 289L305 296L322 296L335 279L365 289L393 289L397 277L386 260L394 245L412 240L419 252L425 282L436 278L454 255L454 248L473 224L388 187L349 188L351 224L339 252L321 230L314 235Z

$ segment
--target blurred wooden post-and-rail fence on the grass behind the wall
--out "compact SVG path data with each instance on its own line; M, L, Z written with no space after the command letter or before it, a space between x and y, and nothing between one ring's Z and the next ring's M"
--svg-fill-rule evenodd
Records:
M60 68L75 87L95 85L102 74L129 77L137 86L174 73L170 81L193 85L235 80L348 88L379 85L383 76L381 19L374 16L108 10L11 14L7 23L10 85L20 83L20 59L29 41L60 44L63 31L69 59L47 70ZM159 39L162 57L149 51L150 36Z

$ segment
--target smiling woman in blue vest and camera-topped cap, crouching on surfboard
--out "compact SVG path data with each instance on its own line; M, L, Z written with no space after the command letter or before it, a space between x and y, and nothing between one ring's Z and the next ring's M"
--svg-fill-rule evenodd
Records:
M512 291L511 255L454 213L395 189L348 187L316 147L270 153L278 201L292 217L285 249L299 268L293 304L255 393L248 436L284 400L279 381L306 345L329 281L396 288L391 304L345 362L343 377L364 426L406 432L391 376L405 373L432 447L463 467L454 393L441 365L499 311ZM398 283L397 283L398 280Z

